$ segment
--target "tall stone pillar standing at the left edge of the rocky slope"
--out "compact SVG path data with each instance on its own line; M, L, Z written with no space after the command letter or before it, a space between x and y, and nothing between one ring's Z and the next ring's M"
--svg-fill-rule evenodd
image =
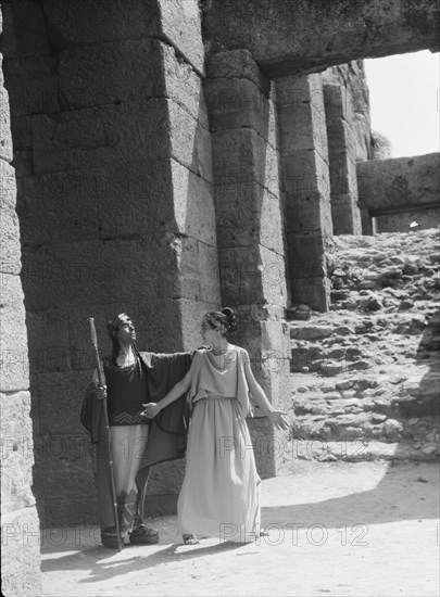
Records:
M291 302L326 312L332 224L322 79L284 77L276 91Z

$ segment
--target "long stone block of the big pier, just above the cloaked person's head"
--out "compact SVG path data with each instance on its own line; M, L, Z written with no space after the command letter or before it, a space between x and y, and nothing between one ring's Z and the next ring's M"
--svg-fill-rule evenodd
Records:
M142 302L162 293L213 302L215 277L199 278L190 249L197 249L198 258L215 267L215 247L173 232L151 240L115 239L27 250L23 268L27 308L85 305L85 292L92 293L92 305Z

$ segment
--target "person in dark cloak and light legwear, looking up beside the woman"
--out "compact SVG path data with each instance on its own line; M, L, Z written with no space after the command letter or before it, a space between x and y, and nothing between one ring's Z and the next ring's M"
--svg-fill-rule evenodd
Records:
M99 385L95 371L81 410L81 422L95 446L101 542L105 547L118 544L111 498L112 460L122 543L158 543L159 533L143 523L148 478L152 465L185 456L187 407L181 396L173 412L150 424L141 416L142 403L152 397L160 401L188 371L191 354L140 353L135 326L124 313L108 322L108 331L112 354L102 359L105 385ZM110 446L103 416L105 403Z

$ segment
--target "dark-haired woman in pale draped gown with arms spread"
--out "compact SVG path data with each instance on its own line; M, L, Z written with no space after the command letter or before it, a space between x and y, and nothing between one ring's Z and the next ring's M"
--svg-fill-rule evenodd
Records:
M149 403L143 414L155 417L188 392L192 408L188 434L187 466L178 498L178 526L185 543L196 536L248 543L260 534L260 477L246 417L249 392L279 429L288 429L266 398L250 368L244 348L229 344L235 331L230 308L204 315L203 343L185 378L159 403Z

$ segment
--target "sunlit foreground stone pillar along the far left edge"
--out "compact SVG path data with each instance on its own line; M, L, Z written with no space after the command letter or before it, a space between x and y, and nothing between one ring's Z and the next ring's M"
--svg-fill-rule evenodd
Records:
M4 16L8 9L3 5ZM2 13L0 33L4 39ZM7 25L5 25L7 26ZM0 55L0 64L2 56ZM0 68L1 585L3 595L41 594L39 520L32 492L34 442L21 246L15 212L9 94Z

